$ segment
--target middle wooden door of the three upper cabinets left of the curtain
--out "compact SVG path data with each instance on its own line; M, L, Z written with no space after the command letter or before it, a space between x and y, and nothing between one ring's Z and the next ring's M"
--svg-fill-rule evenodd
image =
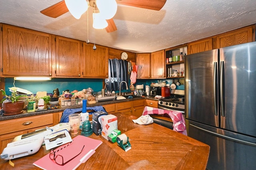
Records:
M55 77L78 78L82 75L81 49L82 41L56 36Z

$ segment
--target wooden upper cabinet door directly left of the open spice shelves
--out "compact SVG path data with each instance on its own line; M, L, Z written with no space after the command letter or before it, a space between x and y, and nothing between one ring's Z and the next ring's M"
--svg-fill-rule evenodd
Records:
M166 59L164 50L151 53L151 78L165 78Z

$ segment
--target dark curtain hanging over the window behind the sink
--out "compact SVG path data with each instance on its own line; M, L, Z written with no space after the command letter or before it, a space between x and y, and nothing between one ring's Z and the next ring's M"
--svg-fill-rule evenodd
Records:
M108 59L108 78L105 79L107 90L119 90L120 82L125 81L128 84L128 61L118 59ZM126 84L121 84L121 90L126 89Z

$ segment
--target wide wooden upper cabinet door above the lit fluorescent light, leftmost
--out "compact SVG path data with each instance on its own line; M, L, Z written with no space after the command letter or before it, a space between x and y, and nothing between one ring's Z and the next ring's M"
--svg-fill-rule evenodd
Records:
M52 76L52 35L2 24L2 76Z

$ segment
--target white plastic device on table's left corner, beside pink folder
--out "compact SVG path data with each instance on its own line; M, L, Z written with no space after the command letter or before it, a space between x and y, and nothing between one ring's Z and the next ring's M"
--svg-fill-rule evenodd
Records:
M27 156L36 153L42 143L44 142L44 136L51 134L51 130L42 129L34 131L32 133L26 133L14 138L14 141L7 144L4 148L0 158L4 160L10 160Z

